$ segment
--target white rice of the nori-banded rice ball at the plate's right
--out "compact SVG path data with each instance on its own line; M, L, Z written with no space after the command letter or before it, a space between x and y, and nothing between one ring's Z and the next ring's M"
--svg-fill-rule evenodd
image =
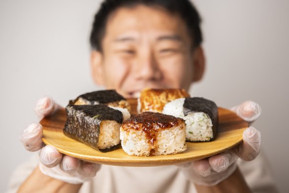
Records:
M176 99L164 106L163 114L172 115L185 120L186 138L189 141L209 141L213 138L212 121L202 112L192 112L184 115L183 106L185 98Z

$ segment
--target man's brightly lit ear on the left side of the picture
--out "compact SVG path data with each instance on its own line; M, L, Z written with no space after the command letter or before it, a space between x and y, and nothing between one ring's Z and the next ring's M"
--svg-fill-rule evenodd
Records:
M103 86L104 84L104 69L102 64L102 54L99 51L93 50L91 52L91 71L94 82Z

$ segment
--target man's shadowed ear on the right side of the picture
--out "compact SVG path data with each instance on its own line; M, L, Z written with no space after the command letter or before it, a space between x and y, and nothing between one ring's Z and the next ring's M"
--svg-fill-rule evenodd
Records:
M202 47L197 47L193 51L193 82L202 79L205 71L205 56Z

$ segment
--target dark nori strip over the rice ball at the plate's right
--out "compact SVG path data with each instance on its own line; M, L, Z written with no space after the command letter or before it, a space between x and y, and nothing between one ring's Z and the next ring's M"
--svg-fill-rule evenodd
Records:
M184 115L187 116L189 113L194 112L203 112L206 113L213 124L212 130L213 130L213 140L217 135L217 129L219 124L219 118L218 118L218 107L216 103L213 101L210 101L205 98L200 97L193 97L193 98L186 98L184 105L183 105L183 112Z

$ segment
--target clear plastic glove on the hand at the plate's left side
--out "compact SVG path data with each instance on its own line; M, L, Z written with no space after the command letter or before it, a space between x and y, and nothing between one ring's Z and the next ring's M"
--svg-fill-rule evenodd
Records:
M45 96L37 101L35 113L42 119L59 108L51 97ZM42 126L32 123L23 130L20 141L28 151L39 151L39 168L43 174L70 184L81 184L96 176L101 165L63 155L55 147L45 145L42 136Z

